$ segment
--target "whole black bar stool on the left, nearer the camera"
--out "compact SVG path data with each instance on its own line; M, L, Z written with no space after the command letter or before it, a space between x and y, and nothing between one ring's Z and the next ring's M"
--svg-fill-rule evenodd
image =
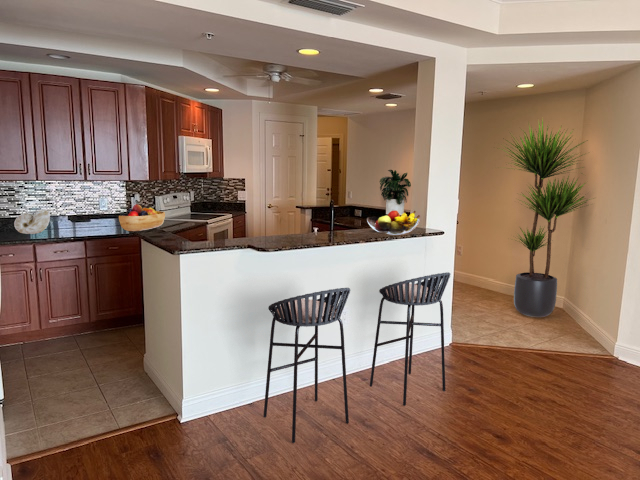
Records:
M349 423L349 409L347 406L347 367L344 358L344 328L342 325L342 310L347 302L350 290L348 288L340 288L336 290L326 290L323 292L314 292L299 297L288 298L269 306L269 311L273 314L273 322L271 323L271 342L269 344L269 366L267 368L267 391L264 396L264 416L267 416L267 406L269 402L269 381L271 380L271 372L282 370L284 368L293 367L293 429L291 442L296 441L296 397L298 393L298 365L304 363L315 362L315 399L318 400L318 349L332 348L342 351L342 379L344 383L344 413L346 422ZM273 333L276 321L284 325L296 327L295 343L274 343ZM321 325L329 325L333 322L340 324L340 345L318 345L318 327ZM315 327L315 333L311 340L307 342L298 353L298 332L300 327ZM312 345L312 342L315 342ZM271 358L273 347L293 347L293 363L271 368ZM299 361L302 354L311 347L315 349L313 358Z

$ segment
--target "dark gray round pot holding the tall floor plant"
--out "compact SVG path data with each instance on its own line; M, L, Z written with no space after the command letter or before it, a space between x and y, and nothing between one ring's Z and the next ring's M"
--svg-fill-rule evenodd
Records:
M531 278L528 273L516 275L513 303L527 317L546 317L556 306L558 280L555 277Z

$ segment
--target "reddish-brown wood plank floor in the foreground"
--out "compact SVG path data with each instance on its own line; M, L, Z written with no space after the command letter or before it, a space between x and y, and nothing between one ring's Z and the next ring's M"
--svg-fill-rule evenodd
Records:
M637 479L640 368L613 358L446 348L179 424L15 465L23 479Z

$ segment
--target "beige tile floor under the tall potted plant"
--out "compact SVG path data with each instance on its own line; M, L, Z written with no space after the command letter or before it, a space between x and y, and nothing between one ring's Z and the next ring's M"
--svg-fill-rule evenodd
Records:
M561 308L545 318L525 317L512 295L460 282L453 287L452 329L457 343L609 355Z

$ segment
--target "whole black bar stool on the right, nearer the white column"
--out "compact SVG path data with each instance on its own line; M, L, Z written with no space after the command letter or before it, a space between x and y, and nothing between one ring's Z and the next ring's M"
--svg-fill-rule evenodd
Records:
M376 344L373 348L373 364L371 366L371 381L369 385L373 385L373 373L376 368L376 353L378 347L389 343L405 341L404 353L404 398L403 405L407 404L407 371L411 373L411 358L413 356L413 327L415 325L440 327L440 348L442 352L442 390L445 389L444 383L444 315L442 312L442 294L449 281L449 273L439 273L426 277L413 278L403 282L394 283L380 289L382 300L380 301L380 311L378 313L378 329L376 331ZM407 305L407 322L389 322L382 321L382 304L384 301L397 303L399 305ZM414 311L416 305L431 305L433 303L440 304L440 323L418 323L414 322ZM388 340L378 343L380 335L380 325L406 325L407 334L404 337Z

